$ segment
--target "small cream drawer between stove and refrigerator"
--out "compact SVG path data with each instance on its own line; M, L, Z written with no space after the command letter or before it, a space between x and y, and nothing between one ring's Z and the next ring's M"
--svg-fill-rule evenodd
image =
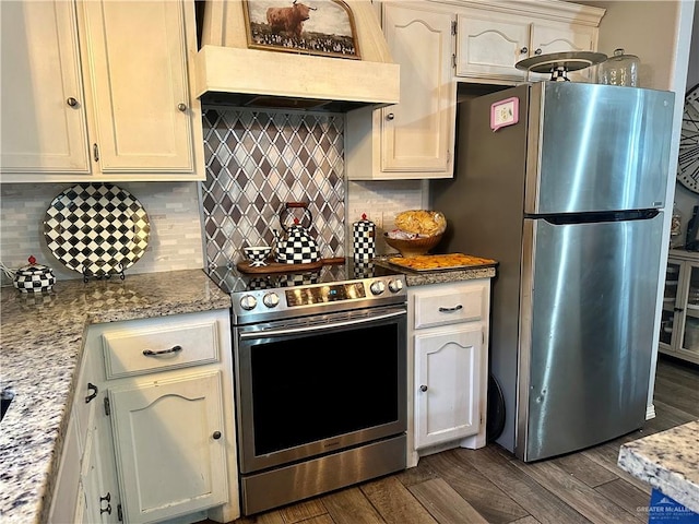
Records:
M418 289L414 297L415 329L472 322L486 315L487 289L482 283Z

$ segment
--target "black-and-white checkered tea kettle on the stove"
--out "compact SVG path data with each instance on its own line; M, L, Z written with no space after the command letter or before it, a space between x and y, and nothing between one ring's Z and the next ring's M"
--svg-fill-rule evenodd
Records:
M286 222L297 210L303 210L301 218L308 225L304 225L298 216L294 216L294 223L286 225ZM309 264L320 260L318 243L308 233L308 228L312 222L312 215L308 205L304 202L286 202L280 212L280 225L284 233L284 237L280 237L274 230L274 259L283 264Z

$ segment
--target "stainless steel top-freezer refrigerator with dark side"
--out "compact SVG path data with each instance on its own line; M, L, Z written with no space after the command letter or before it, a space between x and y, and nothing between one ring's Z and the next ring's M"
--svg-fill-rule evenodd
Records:
M449 222L439 252L499 261L495 440L525 462L643 426L673 103L541 82L460 104L455 176L429 186Z

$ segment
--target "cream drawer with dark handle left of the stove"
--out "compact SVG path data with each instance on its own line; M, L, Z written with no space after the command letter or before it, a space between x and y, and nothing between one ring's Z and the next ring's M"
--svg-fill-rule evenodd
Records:
M215 321L151 321L143 327L106 331L102 341L108 380L218 360Z

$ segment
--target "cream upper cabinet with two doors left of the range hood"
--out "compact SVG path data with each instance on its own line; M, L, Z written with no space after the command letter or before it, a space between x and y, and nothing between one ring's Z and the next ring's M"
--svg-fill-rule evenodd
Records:
M193 2L1 2L2 182L201 180Z

